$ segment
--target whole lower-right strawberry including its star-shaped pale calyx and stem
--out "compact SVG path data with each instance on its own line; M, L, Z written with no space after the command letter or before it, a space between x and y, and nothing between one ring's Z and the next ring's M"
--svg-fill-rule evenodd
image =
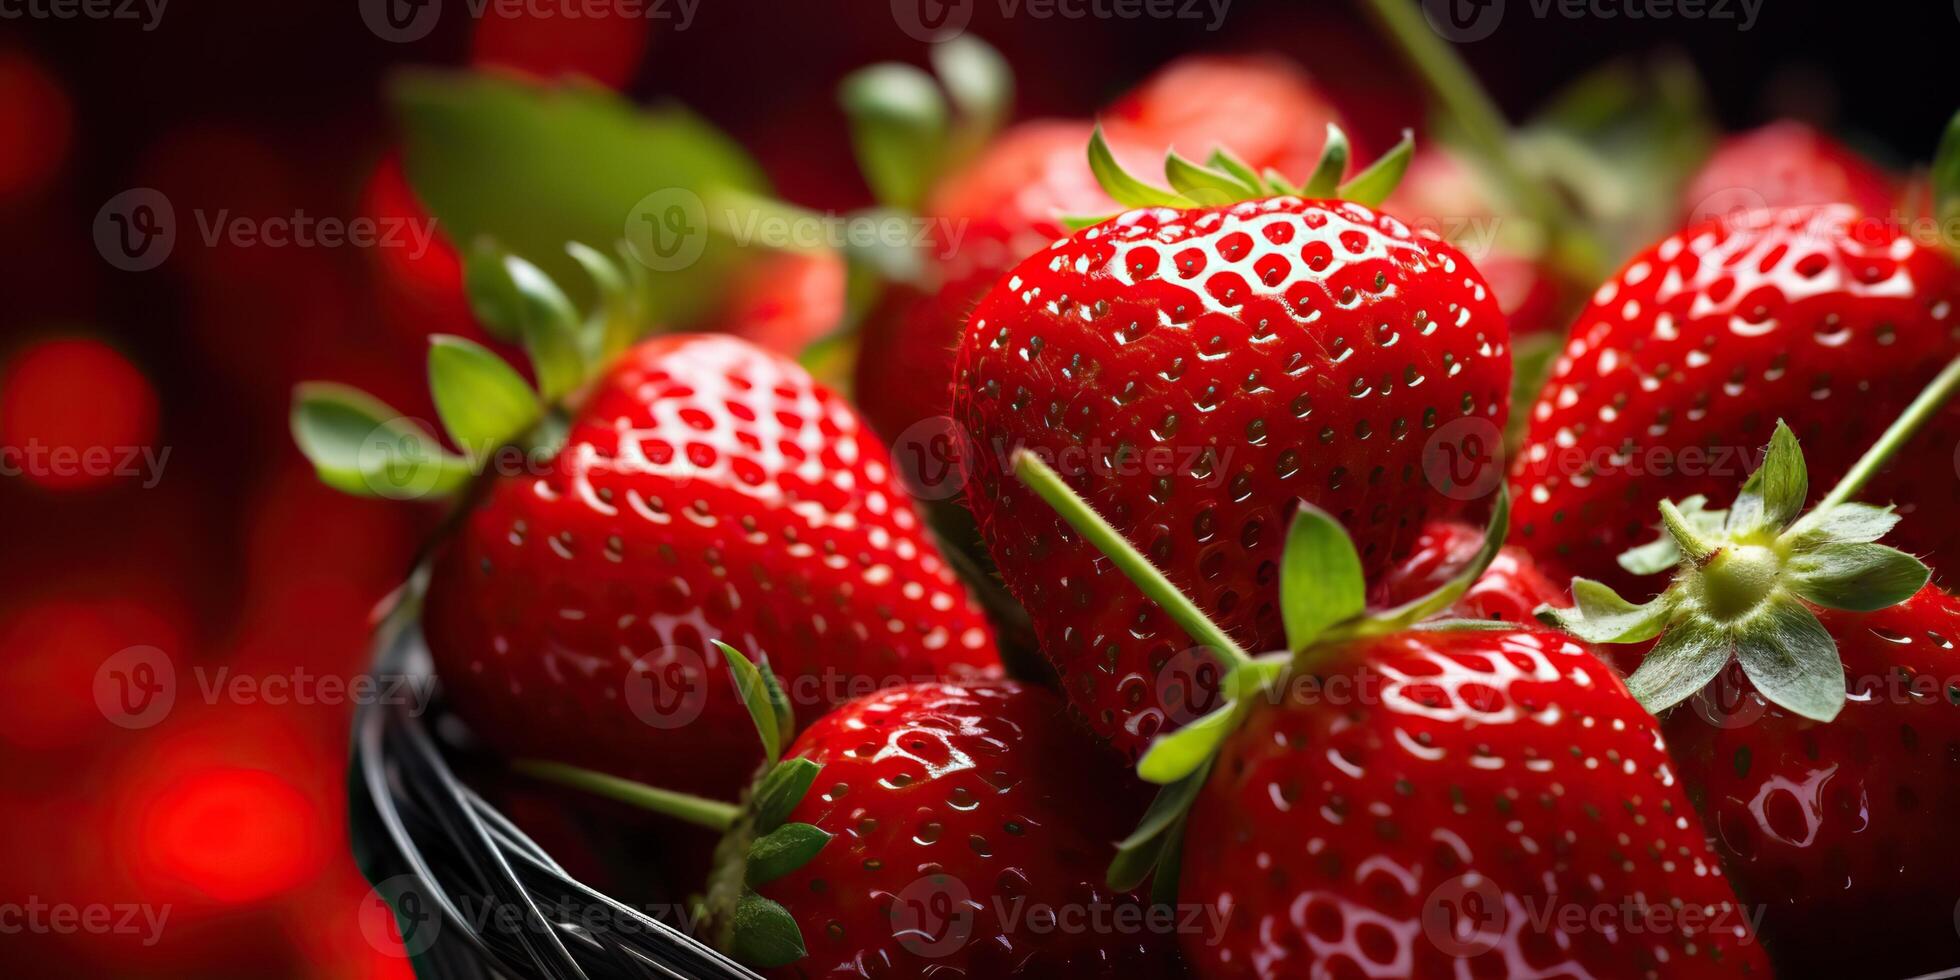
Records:
M1925 584L1919 559L1876 543L1899 521L1891 508L1850 502L1956 388L1960 359L1809 514L1803 449L1780 421L1731 510L1660 504L1666 549L1641 559L1674 553L1666 592L1635 606L1580 578L1578 608L1541 610L1586 639L1654 641L1627 684L1672 710L1682 782L1737 890L1766 907L1782 976L1960 962L1960 843L1946 833L1960 813L1960 604Z

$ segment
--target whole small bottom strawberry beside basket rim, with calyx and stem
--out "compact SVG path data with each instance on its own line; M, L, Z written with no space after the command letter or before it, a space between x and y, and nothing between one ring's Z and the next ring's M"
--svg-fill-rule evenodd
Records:
M778 708L751 710L778 741ZM1047 690L888 688L823 715L784 757L743 808L525 768L723 829L710 933L772 978L1182 976L1174 933L1201 921L1102 882L1145 788Z

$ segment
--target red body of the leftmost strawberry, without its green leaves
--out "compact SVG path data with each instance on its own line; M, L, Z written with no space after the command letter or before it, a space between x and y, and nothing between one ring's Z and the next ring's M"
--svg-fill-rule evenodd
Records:
M631 349L541 472L494 480L423 623L494 749L723 798L760 749L711 639L768 657L804 721L864 684L996 664L878 439L721 335Z

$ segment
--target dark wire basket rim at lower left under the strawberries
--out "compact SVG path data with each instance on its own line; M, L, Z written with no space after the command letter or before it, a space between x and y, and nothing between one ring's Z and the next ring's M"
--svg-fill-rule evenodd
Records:
M404 586L376 627L376 676L433 672L416 592L419 582ZM566 874L457 776L433 729L414 706L363 704L347 786L355 858L417 976L759 980Z

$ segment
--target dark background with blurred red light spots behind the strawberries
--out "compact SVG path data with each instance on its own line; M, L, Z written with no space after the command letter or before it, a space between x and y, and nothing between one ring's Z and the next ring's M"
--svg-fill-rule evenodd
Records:
M1739 14L1735 0L1729 4ZM1621 10L1621 2L1601 4ZM24 12L24 4L0 4ZM404 65L576 71L672 98L811 208L868 202L837 80L923 63L886 0L700 0L694 22L461 14L378 39L355 0L174 0L127 20L0 20L0 445L169 447L163 478L0 476L0 906L169 906L163 939L0 931L8 974L406 976L361 929L347 858L345 706L206 706L125 731L96 668L131 645L180 668L353 676L367 613L431 514L316 486L286 435L292 382L359 382L427 416L423 337L470 333L453 253L206 249L149 272L96 251L96 212L153 186L184 216L412 214L384 100ZM1758 22L1535 16L1464 45L1509 114L1619 55L1686 53L1729 127L1803 116L1893 165L1952 112L1946 0L1762 0ZM1235 0L1188 20L1005 18L976 35L1019 78L1019 116L1088 116L1188 51L1278 51L1386 145L1421 98L1341 2ZM188 225L188 220L184 220ZM188 684L188 682L186 682ZM200 704L182 704L200 702ZM8 921L0 917L0 929Z

